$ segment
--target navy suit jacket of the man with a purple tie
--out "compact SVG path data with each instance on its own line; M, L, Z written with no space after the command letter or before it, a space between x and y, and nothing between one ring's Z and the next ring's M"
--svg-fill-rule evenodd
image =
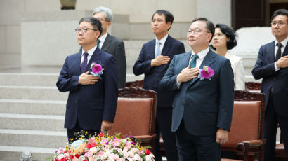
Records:
M64 127L72 129L78 119L80 127L84 130L100 130L102 120L113 122L116 113L116 62L112 55L96 48L86 71L92 62L100 62L105 69L102 79L94 85L78 85L81 75L80 62L81 52L66 57L57 82L60 92L69 91Z

